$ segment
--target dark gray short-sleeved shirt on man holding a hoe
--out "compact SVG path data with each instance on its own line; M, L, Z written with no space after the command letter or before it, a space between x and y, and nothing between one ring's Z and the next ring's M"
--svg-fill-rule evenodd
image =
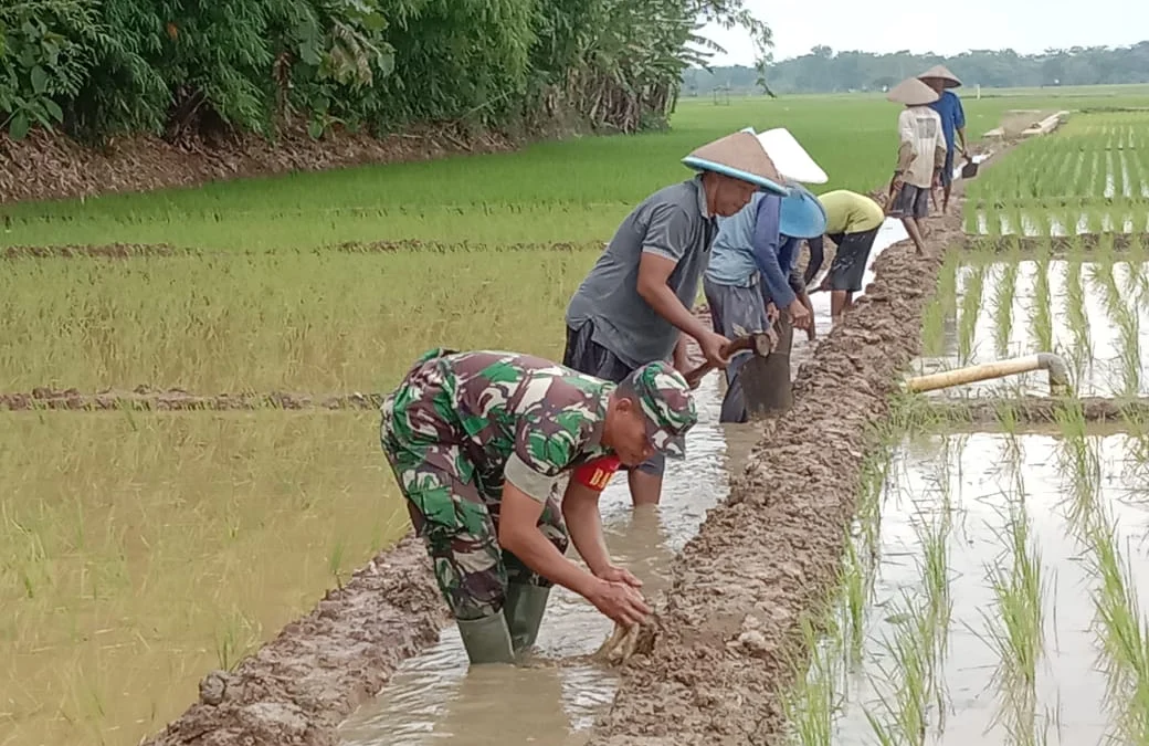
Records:
M658 190L618 226L571 298L566 325L593 322L592 339L635 368L669 359L679 331L639 295L639 261L647 252L674 260L666 284L692 308L717 230L701 176Z

